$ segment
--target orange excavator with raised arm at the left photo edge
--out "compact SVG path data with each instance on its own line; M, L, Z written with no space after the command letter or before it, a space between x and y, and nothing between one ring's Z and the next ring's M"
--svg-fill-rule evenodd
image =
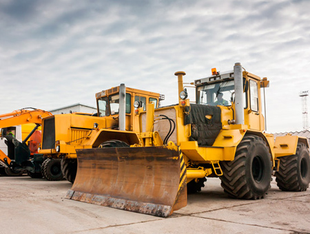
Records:
M8 153L0 149L1 171L7 175L21 175L23 171L27 171L32 178L42 178L41 165L44 159L42 155L37 154L41 142L41 131L37 129L41 126L42 118L48 116L52 114L34 108L23 108L0 115L0 137L2 140L4 138L8 148ZM35 127L20 142L14 136L16 134L14 126L28 124L33 124Z

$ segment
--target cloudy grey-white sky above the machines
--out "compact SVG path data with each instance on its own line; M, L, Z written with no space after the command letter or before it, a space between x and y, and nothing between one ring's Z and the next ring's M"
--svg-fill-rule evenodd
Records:
M120 83L169 105L174 72L191 82L240 62L270 80L267 131L301 131L309 9L308 0L0 0L0 114L95 106L96 92Z

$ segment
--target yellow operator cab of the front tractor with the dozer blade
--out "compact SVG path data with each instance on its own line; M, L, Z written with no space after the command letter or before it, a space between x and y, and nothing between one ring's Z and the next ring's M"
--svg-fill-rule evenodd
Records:
M265 130L265 119L262 116L260 88L269 87L267 78L260 78L247 71L242 72L243 100L245 125L249 129ZM196 86L196 103L201 105L234 106L235 85L234 71L220 72L212 70L212 76L201 78L194 82ZM220 99L223 98L222 101ZM234 108L233 108L234 109ZM236 112L236 110L234 111ZM234 113L236 115L236 113ZM236 118L236 116L234 116Z

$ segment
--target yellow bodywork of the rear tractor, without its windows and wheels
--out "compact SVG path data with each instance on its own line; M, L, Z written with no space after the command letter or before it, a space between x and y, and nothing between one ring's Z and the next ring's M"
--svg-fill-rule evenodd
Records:
M96 102L98 103L98 100L101 98L109 98L118 93L119 86L103 90L96 93ZM160 94L130 87L126 87L126 93L130 94L130 102L128 102L130 103L130 113L125 114L126 131L118 130L118 114L109 114L103 117L81 113L50 116L50 118L43 120L43 140L39 153L43 153L51 158L76 158L76 149L98 147L106 140L123 140L130 145L137 143L138 138L136 134L133 134L138 132L138 115L135 113L134 101L139 99L138 97L146 98L147 102L150 101L149 98L155 98L158 105ZM97 106L97 111L100 111L99 106ZM54 119L54 127L56 129L52 129L53 132L50 129L45 132L45 129L48 128L46 123L52 119ZM124 132L127 133L126 136ZM49 146L52 147L45 147L46 138L50 134L56 134L53 142L50 141Z

